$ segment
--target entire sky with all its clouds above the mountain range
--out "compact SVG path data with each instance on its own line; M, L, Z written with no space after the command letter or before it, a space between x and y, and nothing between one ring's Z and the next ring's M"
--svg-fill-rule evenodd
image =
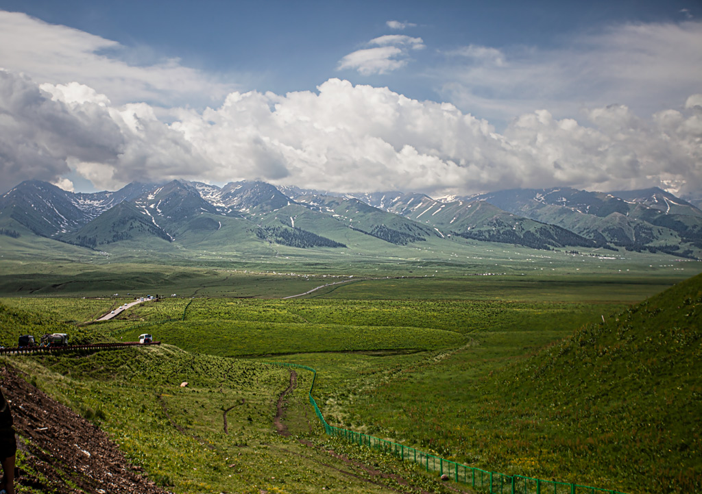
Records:
M702 4L0 0L0 193L702 196Z

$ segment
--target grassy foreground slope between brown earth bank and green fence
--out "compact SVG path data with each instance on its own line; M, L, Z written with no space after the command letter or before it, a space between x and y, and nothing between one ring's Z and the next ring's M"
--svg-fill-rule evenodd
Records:
M451 492L392 455L322 436L307 402L310 373L298 373L286 395L286 436L273 427L276 399L291 382L280 366L170 346L2 360L100 425L177 493Z

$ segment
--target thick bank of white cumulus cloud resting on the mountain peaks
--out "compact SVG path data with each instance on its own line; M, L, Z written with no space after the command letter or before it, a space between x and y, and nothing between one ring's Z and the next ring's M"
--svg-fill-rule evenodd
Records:
M644 119L625 105L583 121L528 112L498 132L449 103L329 79L317 91L234 92L222 105L112 105L90 88L43 86L0 72L0 186L39 178L69 187L69 171L98 188L133 180L258 179L340 191L468 194L510 187L677 192L702 185L702 109ZM69 98L70 96L70 98Z

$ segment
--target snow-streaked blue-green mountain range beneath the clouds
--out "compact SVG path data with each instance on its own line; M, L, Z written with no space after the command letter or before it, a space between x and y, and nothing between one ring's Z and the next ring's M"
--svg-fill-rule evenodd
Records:
M29 180L0 198L0 234L91 249L121 242L248 243L344 249L491 241L538 249L662 251L702 258L702 211L662 189L512 189L432 199L348 194L266 182L224 187L173 180L74 193ZM0 235L1 238L1 235Z

